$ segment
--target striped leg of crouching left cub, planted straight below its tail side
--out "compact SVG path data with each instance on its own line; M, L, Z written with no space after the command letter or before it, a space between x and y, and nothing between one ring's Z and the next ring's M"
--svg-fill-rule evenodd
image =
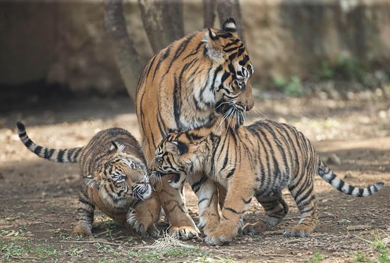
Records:
M91 202L85 189L78 193L77 220L73 226L72 237L77 235L91 236L94 222L95 205Z

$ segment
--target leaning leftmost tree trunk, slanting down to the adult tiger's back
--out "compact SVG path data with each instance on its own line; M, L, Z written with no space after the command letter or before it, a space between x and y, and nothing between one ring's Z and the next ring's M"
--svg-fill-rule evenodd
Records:
M140 60L134 42L127 33L122 0L105 1L105 27L113 39L115 58L126 90L136 100L137 81L144 62Z

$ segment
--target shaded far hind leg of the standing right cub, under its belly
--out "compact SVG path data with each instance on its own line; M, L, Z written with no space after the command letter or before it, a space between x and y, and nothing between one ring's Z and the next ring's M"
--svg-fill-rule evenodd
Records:
M254 233L260 234L271 229L276 224L280 223L284 216L289 212L289 206L284 201L282 193L270 197L258 197L257 201L264 207L265 217L256 223L247 223L244 226L244 234Z

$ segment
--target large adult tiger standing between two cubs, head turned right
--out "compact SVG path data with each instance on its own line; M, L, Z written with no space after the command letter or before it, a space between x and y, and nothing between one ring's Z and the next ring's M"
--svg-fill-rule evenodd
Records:
M169 132L210 125L225 102L251 110L253 73L233 18L223 23L222 30L196 31L159 51L144 67L137 85L136 112L146 161L154 161L158 143ZM205 199L216 192L215 182L202 173L187 180L202 200L198 226L207 234L219 222L218 200ZM182 239L197 236L199 230L181 192L170 187L167 179L157 184L156 191L171 224L169 233Z

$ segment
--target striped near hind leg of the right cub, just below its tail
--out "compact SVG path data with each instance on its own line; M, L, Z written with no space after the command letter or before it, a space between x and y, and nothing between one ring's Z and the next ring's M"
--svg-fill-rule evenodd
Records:
M310 237L317 226L318 207L313 194L313 179L312 176L303 178L301 182L289 187L298 206L300 220L296 226L283 232L287 237Z

